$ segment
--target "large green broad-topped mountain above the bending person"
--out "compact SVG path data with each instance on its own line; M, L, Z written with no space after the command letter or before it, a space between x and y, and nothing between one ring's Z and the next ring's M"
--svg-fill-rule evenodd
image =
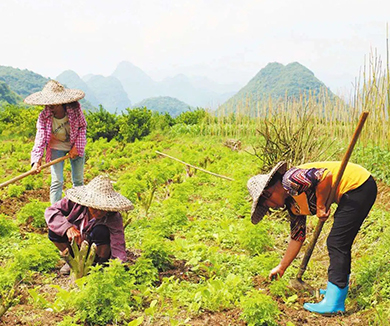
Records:
M302 94L319 94L326 90L332 98L335 95L323 82L314 76L314 73L298 62L286 66L274 62L261 69L249 83L236 95L230 98L224 107L232 107L244 101L261 101L269 97L273 99L299 98Z

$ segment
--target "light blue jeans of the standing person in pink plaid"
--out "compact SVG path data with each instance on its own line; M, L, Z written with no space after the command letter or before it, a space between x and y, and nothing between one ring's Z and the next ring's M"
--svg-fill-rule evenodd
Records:
M61 151L57 149L51 150L51 159L63 157L67 154L67 151ZM70 159L70 165L72 167L72 183L73 187L82 186L84 184L84 156ZM64 161L52 165L51 167L51 185L50 185L50 203L61 200L62 188L64 185Z

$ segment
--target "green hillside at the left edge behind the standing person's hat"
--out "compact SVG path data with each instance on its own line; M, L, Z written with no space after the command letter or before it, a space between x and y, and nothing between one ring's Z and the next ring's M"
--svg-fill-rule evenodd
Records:
M12 91L24 99L41 91L49 79L27 69L0 66L0 81L7 83Z

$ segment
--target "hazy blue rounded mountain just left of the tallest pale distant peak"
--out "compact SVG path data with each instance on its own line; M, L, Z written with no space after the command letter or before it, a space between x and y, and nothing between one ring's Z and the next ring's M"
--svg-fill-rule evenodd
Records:
M123 89L121 82L112 76L89 76L86 85L96 95L99 104L109 112L120 113L131 106L131 102Z

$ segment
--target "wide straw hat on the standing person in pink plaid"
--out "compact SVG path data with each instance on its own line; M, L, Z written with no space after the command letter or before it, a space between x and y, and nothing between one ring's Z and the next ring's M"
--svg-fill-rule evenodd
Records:
M31 105L57 105L81 100L85 93L65 88L56 80L49 80L40 92L27 96L24 102Z

